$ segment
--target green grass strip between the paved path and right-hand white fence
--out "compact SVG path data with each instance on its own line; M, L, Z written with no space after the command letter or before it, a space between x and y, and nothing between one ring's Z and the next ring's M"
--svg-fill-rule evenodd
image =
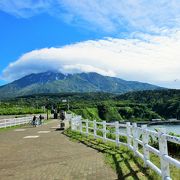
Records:
M140 180L160 180L161 177L150 168L144 168L143 160L134 156L133 152L127 147L116 147L115 143L103 143L101 139L94 139L93 136L86 137L70 129L64 131L64 134L71 140L85 144L98 152L102 152L105 162L109 164L117 173L118 179L140 179ZM159 158L150 154L150 159L159 166ZM170 166L171 177L176 180L179 177L180 170Z

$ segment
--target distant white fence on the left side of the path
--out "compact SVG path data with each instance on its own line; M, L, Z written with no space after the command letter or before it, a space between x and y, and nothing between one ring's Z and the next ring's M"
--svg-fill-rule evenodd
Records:
M32 117L0 119L0 128L6 128L11 126L17 126L21 124L27 124L32 120Z

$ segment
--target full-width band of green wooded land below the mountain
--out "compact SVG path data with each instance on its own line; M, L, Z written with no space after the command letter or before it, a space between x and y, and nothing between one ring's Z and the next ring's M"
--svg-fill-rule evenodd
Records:
M4 109L2 104L6 105ZM180 119L180 90L137 91L122 95L100 92L37 94L1 101L0 112L29 113L45 108L69 109L84 118L99 121Z

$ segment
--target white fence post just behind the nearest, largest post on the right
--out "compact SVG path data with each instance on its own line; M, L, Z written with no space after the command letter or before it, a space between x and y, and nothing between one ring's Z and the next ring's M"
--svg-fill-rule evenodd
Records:
M149 134L146 132L147 125L142 125L142 142L143 142L143 153L144 153L144 166L147 167L147 160L149 160L149 150L146 148L146 144L149 142Z

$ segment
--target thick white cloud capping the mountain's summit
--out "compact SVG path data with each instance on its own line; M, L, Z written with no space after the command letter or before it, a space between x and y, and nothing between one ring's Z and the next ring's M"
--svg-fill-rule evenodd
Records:
M12 81L30 73L95 71L127 80L180 88L180 31L169 36L138 34L139 39L107 38L22 55L3 72Z

